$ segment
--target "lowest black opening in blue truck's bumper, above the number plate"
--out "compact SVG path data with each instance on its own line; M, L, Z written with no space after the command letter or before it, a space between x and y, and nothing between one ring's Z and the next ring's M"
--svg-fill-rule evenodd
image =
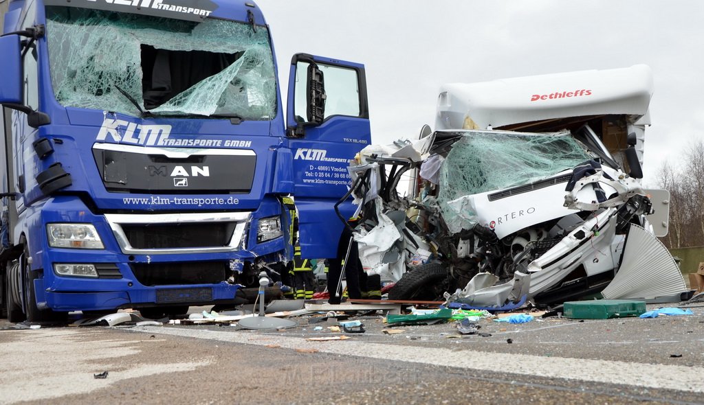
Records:
M142 285L217 284L227 279L227 262L132 263L132 273Z

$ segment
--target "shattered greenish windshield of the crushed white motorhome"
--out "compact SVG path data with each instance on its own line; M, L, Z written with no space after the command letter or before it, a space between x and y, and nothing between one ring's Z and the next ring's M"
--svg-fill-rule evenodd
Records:
M584 147L569 132L466 131L463 134L453 144L440 172L438 201L447 224L466 225L470 221L471 225L476 217L475 212L458 212L457 205L453 208L449 204L457 198L529 184L589 160Z

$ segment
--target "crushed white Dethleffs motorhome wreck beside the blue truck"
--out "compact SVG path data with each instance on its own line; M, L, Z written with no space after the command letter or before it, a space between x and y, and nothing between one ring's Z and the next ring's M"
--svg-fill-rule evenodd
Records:
M365 271L396 282L390 300L450 307L679 301L641 187L652 94L645 65L443 86L435 131L349 167Z

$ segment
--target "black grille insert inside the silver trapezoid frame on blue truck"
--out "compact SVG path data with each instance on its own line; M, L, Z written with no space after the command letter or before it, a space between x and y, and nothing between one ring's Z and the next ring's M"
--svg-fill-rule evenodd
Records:
M123 224L127 241L135 249L211 248L227 246L236 222L206 224Z

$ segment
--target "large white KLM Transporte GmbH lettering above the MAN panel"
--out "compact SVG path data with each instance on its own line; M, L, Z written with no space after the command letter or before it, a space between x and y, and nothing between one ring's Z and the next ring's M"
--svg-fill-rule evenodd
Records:
M106 118L96 136L99 142L129 143L141 146L200 146L201 148L251 148L252 141L234 139L172 139L170 125L135 124Z

